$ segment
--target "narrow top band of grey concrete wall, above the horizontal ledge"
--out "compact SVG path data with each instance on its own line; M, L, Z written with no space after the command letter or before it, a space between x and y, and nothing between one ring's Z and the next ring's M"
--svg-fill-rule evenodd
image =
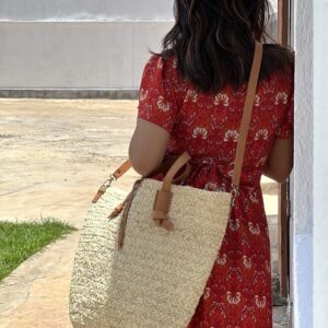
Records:
M0 20L171 20L173 0L1 0Z

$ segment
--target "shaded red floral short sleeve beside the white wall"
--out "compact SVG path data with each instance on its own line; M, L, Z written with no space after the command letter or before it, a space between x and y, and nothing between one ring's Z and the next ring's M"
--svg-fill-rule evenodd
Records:
M294 82L293 72L286 79L288 92L282 93L281 98L285 98L283 106L284 115L280 126L277 129L276 136L279 139L288 139L294 130ZM278 96L279 97L279 96Z

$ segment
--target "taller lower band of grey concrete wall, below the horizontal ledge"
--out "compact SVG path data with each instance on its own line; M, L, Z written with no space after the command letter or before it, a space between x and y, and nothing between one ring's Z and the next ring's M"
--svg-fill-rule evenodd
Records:
M172 22L2 22L1 89L138 89Z

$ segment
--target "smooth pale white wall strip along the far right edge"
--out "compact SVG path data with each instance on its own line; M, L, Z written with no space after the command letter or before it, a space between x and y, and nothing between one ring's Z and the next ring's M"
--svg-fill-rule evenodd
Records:
M314 0L314 327L328 327L328 1Z

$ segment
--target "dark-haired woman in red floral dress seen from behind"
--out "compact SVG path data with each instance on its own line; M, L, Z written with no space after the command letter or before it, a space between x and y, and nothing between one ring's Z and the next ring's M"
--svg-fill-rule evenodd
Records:
M238 128L254 56L266 37L268 0L176 0L176 23L152 52L140 85L129 155L143 176L188 151L184 185L231 189ZM283 183L293 166L294 54L263 45L241 194L188 328L272 327L271 265L262 174Z

